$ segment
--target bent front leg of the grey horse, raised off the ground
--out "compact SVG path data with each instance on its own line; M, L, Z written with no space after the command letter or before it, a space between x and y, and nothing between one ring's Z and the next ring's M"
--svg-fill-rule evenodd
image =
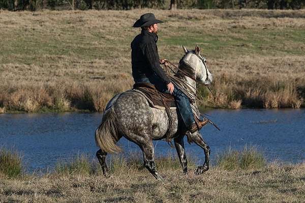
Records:
M200 175L208 170L210 148L209 146L207 146L207 144L205 143L201 134L198 131L191 134L191 139L194 143L196 143L199 147L201 147L204 150L204 155L205 155L204 164L197 166L195 170L195 174Z

